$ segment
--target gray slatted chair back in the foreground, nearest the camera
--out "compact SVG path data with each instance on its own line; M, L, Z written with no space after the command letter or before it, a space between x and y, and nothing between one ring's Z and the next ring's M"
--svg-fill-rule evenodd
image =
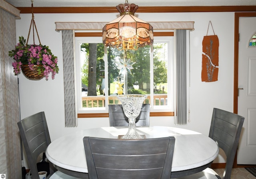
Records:
M174 137L84 137L89 179L170 179Z

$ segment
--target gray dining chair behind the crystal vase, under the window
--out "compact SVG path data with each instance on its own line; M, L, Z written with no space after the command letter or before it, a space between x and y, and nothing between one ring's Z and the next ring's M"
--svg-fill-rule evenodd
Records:
M128 126L128 118L124 114L122 104L108 105L109 125L110 126ZM136 118L136 126L149 126L150 104L142 104L140 114Z

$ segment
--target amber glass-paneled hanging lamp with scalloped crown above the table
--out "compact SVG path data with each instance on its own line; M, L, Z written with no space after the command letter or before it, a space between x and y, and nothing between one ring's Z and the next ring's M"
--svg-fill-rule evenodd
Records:
M120 12L120 17L102 29L105 46L118 50L137 50L153 43L153 27L134 16L138 9L137 5L119 4L116 9Z

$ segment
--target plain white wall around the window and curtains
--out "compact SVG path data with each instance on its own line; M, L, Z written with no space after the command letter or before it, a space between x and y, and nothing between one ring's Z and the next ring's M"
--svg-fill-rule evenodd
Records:
M194 31L190 33L190 122L187 126L176 126L173 117L151 117L150 125L174 126L195 130L208 136L212 110L214 107L233 111L233 68L234 68L234 12L212 13L137 13L146 22L194 21ZM21 118L44 111L51 140L65 134L86 129L108 126L108 118L79 118L78 127L65 128L62 34L55 31L55 22L110 22L119 16L110 14L34 14L42 45L48 45L58 57L60 71L54 80L32 81L23 74L18 75L20 90ZM27 39L31 14L21 14L16 20L16 37ZM208 23L212 22L215 35L219 38L218 81L201 81L202 39L207 33ZM213 35L209 28L208 35ZM35 42L38 44L35 34ZM29 44L33 43L32 31ZM224 162L217 159L214 162Z

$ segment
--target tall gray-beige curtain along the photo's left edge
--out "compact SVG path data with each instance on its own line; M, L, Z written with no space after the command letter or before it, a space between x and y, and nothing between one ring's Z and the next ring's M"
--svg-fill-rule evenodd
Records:
M16 45L16 17L0 8L0 173L21 179L18 78L8 51Z

